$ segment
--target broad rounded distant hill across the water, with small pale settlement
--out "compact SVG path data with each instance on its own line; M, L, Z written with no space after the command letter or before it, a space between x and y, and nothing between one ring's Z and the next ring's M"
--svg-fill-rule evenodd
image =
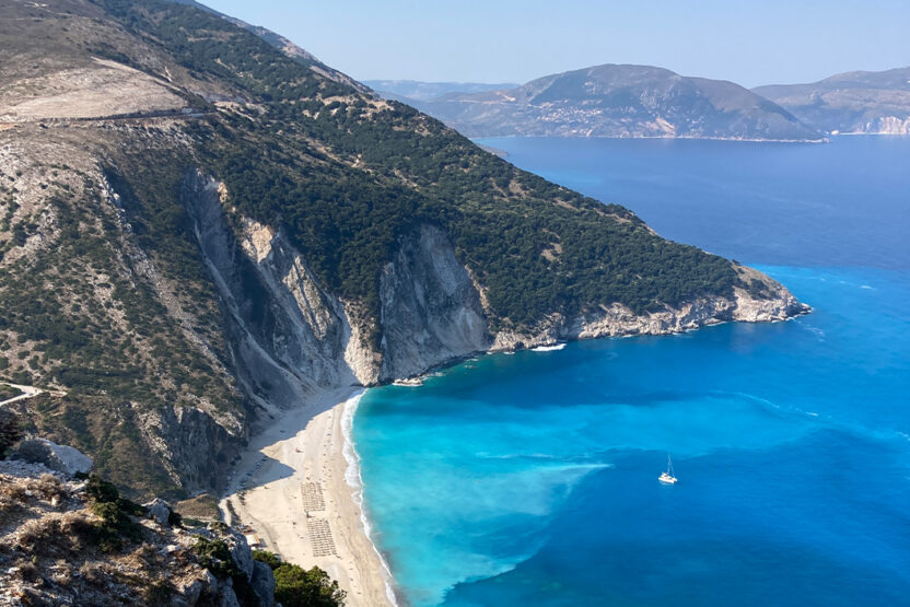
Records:
M595 66L514 89L413 103L468 137L821 139L738 84L649 66Z

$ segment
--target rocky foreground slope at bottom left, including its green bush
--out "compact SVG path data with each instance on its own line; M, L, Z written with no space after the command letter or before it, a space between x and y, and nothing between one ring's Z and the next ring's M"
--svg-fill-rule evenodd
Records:
M160 499L131 502L88 474L85 455L20 441L16 425L0 410L3 605L290 607L314 605L306 597L315 594L324 597L319 605L345 604L345 592L318 568L253 551L210 511L199 520Z

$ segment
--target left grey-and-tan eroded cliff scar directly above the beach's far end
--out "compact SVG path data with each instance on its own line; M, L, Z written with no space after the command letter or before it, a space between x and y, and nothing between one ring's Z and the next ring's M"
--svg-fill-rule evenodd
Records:
M246 219L232 230L223 186L199 172L187 176L182 198L222 297L237 378L261 409L377 380L378 357L363 347L346 305L318 285L283 234Z

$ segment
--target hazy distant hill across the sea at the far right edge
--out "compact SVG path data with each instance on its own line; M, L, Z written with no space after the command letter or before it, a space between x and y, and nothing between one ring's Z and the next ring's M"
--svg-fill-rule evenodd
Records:
M774 84L752 91L819 131L910 135L910 67L847 72L812 84Z

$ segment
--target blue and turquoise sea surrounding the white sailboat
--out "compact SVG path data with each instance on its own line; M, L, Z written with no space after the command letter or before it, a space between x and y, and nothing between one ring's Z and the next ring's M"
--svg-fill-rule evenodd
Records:
M369 390L353 439L402 603L910 605L910 138L483 143L815 312Z

